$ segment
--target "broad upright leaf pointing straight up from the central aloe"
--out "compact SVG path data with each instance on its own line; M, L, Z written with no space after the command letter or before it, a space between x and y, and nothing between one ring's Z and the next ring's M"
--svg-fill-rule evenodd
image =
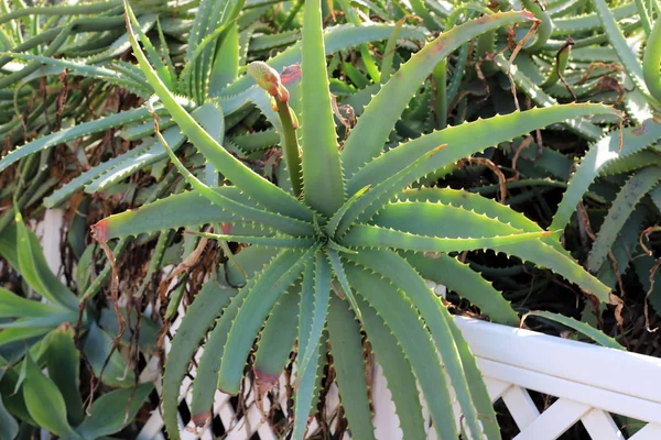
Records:
M344 182L324 56L321 0L305 2L301 131L305 201L332 216L344 202Z

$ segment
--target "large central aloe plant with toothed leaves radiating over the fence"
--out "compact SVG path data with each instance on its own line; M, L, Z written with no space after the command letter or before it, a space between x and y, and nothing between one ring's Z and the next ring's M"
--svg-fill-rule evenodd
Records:
M199 425L208 422L210 415L214 389L209 384L238 393L246 361L259 339L252 366L262 395L279 377L296 343L294 438L304 436L326 350L351 433L373 438L368 388L359 373L364 371L364 330L386 376L393 378L391 391L404 437L424 437L415 381L423 389L434 429L442 438L457 437L457 427L449 421L447 375L466 432L475 438L499 438L475 360L446 306L424 278L454 284L485 314L508 323L518 322L509 304L448 253L492 249L514 255L555 271L597 301L608 302L609 289L559 246L554 232L543 231L522 215L465 191L408 188L499 141L548 124L616 111L590 103L552 106L448 127L383 152L409 100L448 54L484 32L534 20L527 12L494 13L448 30L403 64L371 99L340 150L328 90L321 3L307 1L297 118L292 118L286 80L264 65L251 67L278 109L289 193L229 154L177 101L142 52L138 43L143 41L142 33L128 3L126 8L134 55L160 103L228 185L209 187L201 182L156 131L193 190L104 219L93 227L95 238L106 243L115 238L212 224L223 233L205 237L250 244L238 253L226 280L242 287L226 288L226 295L201 294L175 336L163 383L170 436L178 438L176 406L188 359L213 328L193 391L193 419ZM297 72L288 69L288 78ZM301 173L295 173L299 168ZM457 272L463 274L462 286ZM289 337L278 338L277 333Z

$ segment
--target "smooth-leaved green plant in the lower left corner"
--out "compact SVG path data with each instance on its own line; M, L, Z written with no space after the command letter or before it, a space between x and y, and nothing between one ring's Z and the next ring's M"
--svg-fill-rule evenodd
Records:
M29 294L24 297L0 287L1 437L13 439L19 429L31 432L40 427L69 439L120 431L132 421L153 384L139 384L130 363L115 350L110 333L117 332L117 316L111 309L95 312L86 298L79 300L50 271L36 235L20 215L15 227L0 234L0 255L20 272ZM35 300L37 295L45 302ZM134 319L137 314L131 316ZM155 324L145 317L134 350L150 353ZM131 342L123 336L120 349ZM80 395L82 358L98 383L118 388L98 396L87 408ZM44 367L47 375L41 372Z

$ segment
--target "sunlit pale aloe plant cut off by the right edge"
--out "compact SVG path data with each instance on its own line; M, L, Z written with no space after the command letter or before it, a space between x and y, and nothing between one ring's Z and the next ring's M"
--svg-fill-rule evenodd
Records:
M649 7L649 6L648 6ZM610 207L603 223L597 230L592 250L587 255L587 268L597 273L608 285L615 287L625 271L633 266L640 283L648 292L651 288L650 270L653 258L637 258L641 233L649 226L647 212L659 212L659 140L661 140L661 94L659 78L661 65L661 20L650 22L650 15L643 2L637 2L631 12L638 13L639 35L647 36L641 55L631 47L636 34L626 36L617 23L617 15L606 2L594 0L593 8L600 25L613 46L617 58L626 74L625 85L632 86L626 90L624 105L633 122L631 127L619 128L599 139L582 158L576 172L570 180L565 196L557 209L551 228L565 228L571 215L575 211L588 187L599 178L615 185L617 196L608 198ZM649 195L649 201L639 205ZM653 215L651 215L653 216ZM587 218L579 218L585 222ZM621 288L622 285L620 284ZM655 310L661 309L661 297L658 290L649 290L648 295Z

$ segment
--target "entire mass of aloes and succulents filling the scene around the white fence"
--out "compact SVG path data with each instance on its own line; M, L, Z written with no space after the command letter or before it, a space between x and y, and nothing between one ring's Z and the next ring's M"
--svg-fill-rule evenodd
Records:
M193 425L286 371L280 435L335 383L370 439L372 355L404 438L502 438L451 312L616 348L660 321L660 9L0 1L0 439L156 406L177 439L193 365Z

